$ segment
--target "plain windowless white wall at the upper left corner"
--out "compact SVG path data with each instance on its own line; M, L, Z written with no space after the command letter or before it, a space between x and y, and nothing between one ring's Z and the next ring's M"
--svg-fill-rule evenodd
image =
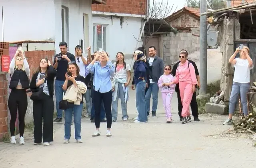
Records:
M0 0L4 41L54 39L54 0ZM2 8L0 41L2 41Z

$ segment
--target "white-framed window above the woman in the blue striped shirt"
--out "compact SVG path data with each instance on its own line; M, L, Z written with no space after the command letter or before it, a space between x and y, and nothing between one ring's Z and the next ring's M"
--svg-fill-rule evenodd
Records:
M93 52L98 51L99 48L102 48L104 51L106 51L106 26L101 24L93 25L92 32Z

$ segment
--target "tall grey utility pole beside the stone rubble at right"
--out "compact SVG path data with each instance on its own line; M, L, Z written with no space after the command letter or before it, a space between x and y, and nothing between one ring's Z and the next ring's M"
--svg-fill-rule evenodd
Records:
M200 13L206 12L206 0L200 0ZM207 89L207 22L206 15L200 16L200 94L206 94Z

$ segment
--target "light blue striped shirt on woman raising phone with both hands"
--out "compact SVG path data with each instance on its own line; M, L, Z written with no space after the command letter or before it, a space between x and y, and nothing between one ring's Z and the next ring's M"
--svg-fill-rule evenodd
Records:
M100 62L96 61L93 65L89 64L87 70L94 74L93 86L94 90L100 93L106 93L112 90L110 76L115 73L115 66L108 60L106 66L101 67Z

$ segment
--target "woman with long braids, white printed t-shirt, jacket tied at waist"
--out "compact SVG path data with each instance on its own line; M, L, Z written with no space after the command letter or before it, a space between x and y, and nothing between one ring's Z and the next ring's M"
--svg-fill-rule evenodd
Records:
M129 116L127 115L127 101L129 98L129 83L131 80L131 68L129 64L126 64L124 61L124 54L122 52L118 52L116 54L117 61L114 63L115 66L115 74L114 74L114 82L115 88L113 89L113 102L112 102L112 121L117 120L117 106L118 99L121 99L122 106L122 120L127 121Z

